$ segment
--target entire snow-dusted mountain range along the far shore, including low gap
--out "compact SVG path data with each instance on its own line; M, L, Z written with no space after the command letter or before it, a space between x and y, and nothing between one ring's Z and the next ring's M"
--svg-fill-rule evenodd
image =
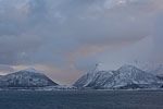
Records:
M154 75L135 65L123 65L115 71L97 64L70 86L61 86L35 69L26 69L0 76L0 89L160 89L163 88L162 75Z

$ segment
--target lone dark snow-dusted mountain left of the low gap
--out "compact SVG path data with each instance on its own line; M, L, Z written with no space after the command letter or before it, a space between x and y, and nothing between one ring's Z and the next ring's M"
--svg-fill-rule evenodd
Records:
M0 87L43 87L57 85L45 74L32 68L0 76Z

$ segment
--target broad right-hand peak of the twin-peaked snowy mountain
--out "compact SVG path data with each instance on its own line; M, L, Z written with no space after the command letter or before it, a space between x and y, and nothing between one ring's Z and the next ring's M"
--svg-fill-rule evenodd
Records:
M113 75L113 81L109 82L112 84L112 87L124 87L124 86L131 86L131 87L153 87L160 84L160 80L150 74L146 73L134 65L124 65L116 71L116 74ZM108 87L108 84L104 87Z

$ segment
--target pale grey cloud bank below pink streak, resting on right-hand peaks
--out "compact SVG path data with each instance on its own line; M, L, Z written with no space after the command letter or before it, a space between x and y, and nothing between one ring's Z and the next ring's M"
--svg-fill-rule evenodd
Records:
M106 49L97 55L87 56L76 63L78 70L88 71L97 63L102 63L109 70L116 70L124 64L133 64L136 61L150 62L152 61L151 53L153 49L153 37L145 37L143 39L130 44L129 46L120 46L112 49Z

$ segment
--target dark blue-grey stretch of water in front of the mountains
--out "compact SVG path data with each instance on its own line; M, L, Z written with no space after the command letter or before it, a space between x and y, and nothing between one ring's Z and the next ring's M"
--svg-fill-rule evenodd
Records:
M163 109L163 92L0 92L0 109Z

